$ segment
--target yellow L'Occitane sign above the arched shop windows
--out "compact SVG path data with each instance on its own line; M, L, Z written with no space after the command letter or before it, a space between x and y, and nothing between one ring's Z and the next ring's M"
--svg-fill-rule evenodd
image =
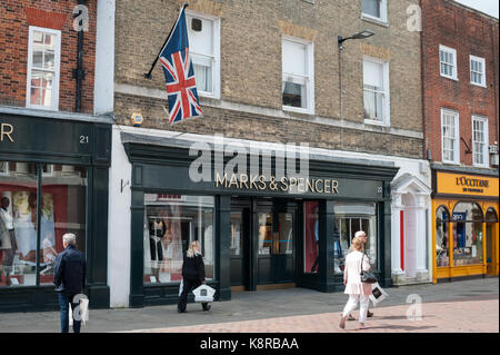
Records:
M498 178L437 172L437 193L447 195L466 195L466 196L491 196L498 198Z

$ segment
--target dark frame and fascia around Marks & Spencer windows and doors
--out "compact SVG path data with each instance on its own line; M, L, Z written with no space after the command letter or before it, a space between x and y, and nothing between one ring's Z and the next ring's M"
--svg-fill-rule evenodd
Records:
M319 273L302 273L303 239L297 238L296 250L296 284L320 292L343 290L342 275L334 274L333 259L333 226L334 201L376 203L378 208L378 276L380 284L390 287L391 282L391 200L390 183L398 168L390 164L370 164L364 160L336 159L323 160L310 157L309 176L317 179L336 179L339 184L338 194L286 194L282 191L229 189L216 186L214 181L191 181L190 164L198 158L189 155L186 141L176 145L174 140L148 140L138 135L122 134L126 152L132 164L131 184L131 275L130 306L174 304L178 302L178 284L143 284L143 218L144 194L178 194L214 196L214 243L216 279L209 282L217 289L216 297L220 300L231 298L230 289L230 235L231 197L271 198L276 200L293 199L298 201L298 236L303 230L303 208L306 200L319 200ZM211 154L213 167L214 155ZM232 157L224 157L224 164ZM250 158L247 159L248 164ZM260 161L260 167L261 167ZM272 160L272 171L274 160ZM298 168L298 166L297 166ZM250 170L248 170L250 171ZM214 177L212 171L212 178ZM326 236L326 237L324 237Z

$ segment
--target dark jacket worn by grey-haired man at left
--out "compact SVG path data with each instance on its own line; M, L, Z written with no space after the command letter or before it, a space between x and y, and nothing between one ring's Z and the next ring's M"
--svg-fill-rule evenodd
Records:
M86 256L69 245L56 259L53 283L58 293L78 295L86 287Z

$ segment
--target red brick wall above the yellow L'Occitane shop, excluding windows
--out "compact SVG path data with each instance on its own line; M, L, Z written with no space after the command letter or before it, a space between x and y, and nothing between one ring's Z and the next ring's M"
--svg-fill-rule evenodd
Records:
M499 141L499 22L448 0L421 0L422 90L426 150L441 161L441 108L459 112L460 137L472 149L471 116L488 118L489 144ZM457 51L458 81L440 76L439 45ZM486 88L470 83L469 56L486 60ZM460 141L460 162L472 166Z

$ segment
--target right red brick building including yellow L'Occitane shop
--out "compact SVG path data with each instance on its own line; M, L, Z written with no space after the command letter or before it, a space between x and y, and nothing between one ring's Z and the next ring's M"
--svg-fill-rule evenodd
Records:
M499 22L454 1L421 7L433 280L498 275Z

